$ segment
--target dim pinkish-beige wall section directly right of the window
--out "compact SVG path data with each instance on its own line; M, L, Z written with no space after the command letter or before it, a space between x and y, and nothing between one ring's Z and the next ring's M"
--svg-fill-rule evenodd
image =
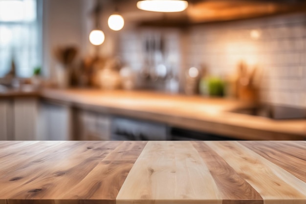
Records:
M83 47L83 1L43 1L43 64L44 75L54 77L52 49L56 46Z

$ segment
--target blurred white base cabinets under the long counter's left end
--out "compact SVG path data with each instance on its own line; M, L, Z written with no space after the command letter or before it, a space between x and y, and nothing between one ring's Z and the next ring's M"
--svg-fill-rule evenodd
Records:
M38 140L110 140L110 118L102 113L45 100L39 118Z

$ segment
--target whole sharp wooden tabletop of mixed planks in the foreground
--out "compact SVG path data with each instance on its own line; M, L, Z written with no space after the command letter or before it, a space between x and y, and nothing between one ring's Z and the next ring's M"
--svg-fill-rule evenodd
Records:
M0 141L0 204L306 204L306 141Z

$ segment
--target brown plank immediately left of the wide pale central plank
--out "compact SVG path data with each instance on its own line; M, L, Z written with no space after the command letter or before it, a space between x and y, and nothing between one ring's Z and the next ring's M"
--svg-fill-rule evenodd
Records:
M82 181L69 189L62 198L101 200L101 195L103 195L103 200L107 203L114 201L131 167L146 144L147 141L124 141L92 169ZM82 186L87 186L87 191L84 192Z

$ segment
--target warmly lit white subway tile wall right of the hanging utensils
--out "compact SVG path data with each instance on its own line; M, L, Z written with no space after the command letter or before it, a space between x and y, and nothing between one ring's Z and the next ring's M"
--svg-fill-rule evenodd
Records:
M252 30L259 38L252 39ZM258 64L265 70L262 100L306 107L306 15L197 26L190 35L197 40L190 41L189 50L205 55L202 62L211 72L229 73L241 60Z

